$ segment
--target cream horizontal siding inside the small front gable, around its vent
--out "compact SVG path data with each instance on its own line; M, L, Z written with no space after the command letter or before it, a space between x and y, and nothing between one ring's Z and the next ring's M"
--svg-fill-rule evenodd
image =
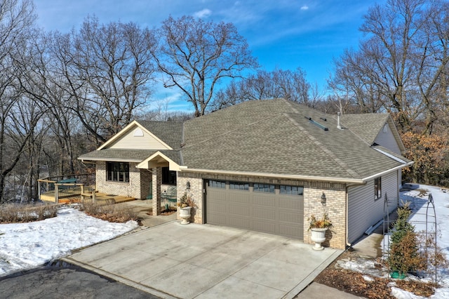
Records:
M138 126L132 126L119 140L109 145L112 149L133 149L133 150L169 150L159 140L142 130L143 136L135 136Z

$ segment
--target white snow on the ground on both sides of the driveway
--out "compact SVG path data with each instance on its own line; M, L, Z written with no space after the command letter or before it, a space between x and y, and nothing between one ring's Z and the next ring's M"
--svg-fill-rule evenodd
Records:
M436 224L438 230L437 244L449 259L449 191L442 192L438 187L420 185L420 190L429 190L434 198ZM415 213L413 221L422 220L427 204L427 195L419 197L419 191L403 192L402 199L413 199ZM39 222L0 225L0 277L13 272L29 270L44 265L51 260L69 255L76 248L88 246L112 239L129 232L138 226L130 221L124 224L111 223L86 215L74 208L61 208L58 217ZM421 230L416 225L416 231ZM339 261L340 267L372 274L373 261L354 263L354 260ZM368 277L367 277L368 279ZM449 272L438 272L438 288L431 298L449 298ZM399 288L392 288L396 298L421 298Z

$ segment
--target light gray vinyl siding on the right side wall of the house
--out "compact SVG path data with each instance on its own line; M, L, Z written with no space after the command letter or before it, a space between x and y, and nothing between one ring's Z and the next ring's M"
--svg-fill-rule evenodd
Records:
M398 197L398 173L394 171L382 176L382 197L374 197L374 180L366 185L348 189L348 241L353 243L372 225L384 217L384 199ZM395 206L390 206L390 212Z

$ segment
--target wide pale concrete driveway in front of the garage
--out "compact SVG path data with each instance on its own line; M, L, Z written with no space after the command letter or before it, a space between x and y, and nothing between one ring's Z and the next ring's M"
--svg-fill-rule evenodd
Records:
M65 260L161 298L293 298L340 253L272 234L172 221Z

